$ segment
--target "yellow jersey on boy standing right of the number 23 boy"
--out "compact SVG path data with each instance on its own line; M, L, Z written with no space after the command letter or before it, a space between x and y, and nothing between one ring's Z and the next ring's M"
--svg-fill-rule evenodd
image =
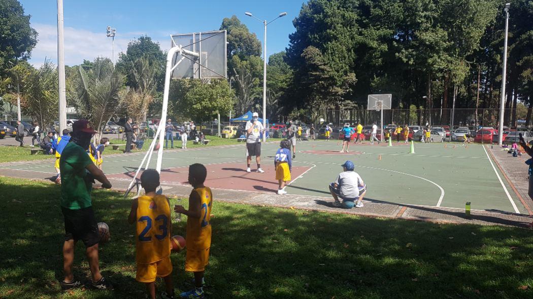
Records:
M213 194L209 187L192 190L200 197L200 218L187 218L187 248L190 250L203 250L211 247L211 208ZM192 196L192 194L191 194Z

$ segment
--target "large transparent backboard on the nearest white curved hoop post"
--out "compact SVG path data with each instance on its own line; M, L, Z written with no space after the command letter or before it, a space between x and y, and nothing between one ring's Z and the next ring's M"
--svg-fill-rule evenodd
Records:
M226 41L225 30L171 35L171 47L181 46L183 49L173 58L172 77L226 78Z

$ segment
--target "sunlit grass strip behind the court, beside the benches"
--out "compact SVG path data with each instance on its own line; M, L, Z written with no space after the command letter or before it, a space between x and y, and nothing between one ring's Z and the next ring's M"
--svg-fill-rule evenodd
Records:
M106 135L104 135L106 136ZM109 136L116 136L115 134L109 135ZM233 145L237 144L237 139L226 139L226 138L220 138L216 136L206 136L206 139L211 140L207 146L218 146L218 145ZM279 141L281 139L277 138L271 138L270 141ZM144 152L147 151L148 147L150 146L150 143L152 142L152 139L147 139L144 142L144 146L142 147L142 150L134 150L133 152ZM111 144L125 144L125 141L122 141L122 139L110 139ZM163 144L164 145L164 144ZM170 142L168 144L170 146ZM205 147L205 145L195 145L192 143L192 140L189 140L187 142L187 148L195 148L195 147ZM110 146L106 148L106 151L104 152L104 155L110 155L110 154L121 154L124 152L125 146L120 147L118 150L113 150ZM174 140L174 148L181 148L181 140ZM31 155L29 145L26 145L24 147L20 146L0 146L0 163L5 162L15 162L15 161L35 161L35 160L45 160L45 159L52 159L55 157L54 155L43 155L42 153L38 153L36 155Z

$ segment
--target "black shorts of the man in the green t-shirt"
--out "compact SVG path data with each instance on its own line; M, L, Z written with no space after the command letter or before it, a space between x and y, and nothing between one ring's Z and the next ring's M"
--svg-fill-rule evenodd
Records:
M91 247L100 242L98 224L94 219L93 207L70 210L61 207L65 224L65 240L82 240L85 247Z

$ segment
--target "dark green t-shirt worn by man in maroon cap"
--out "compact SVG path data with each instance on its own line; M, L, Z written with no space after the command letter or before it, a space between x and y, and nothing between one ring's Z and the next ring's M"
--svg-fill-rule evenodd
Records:
M91 206L92 180L86 167L93 163L83 147L69 142L61 153L61 206L70 210Z

